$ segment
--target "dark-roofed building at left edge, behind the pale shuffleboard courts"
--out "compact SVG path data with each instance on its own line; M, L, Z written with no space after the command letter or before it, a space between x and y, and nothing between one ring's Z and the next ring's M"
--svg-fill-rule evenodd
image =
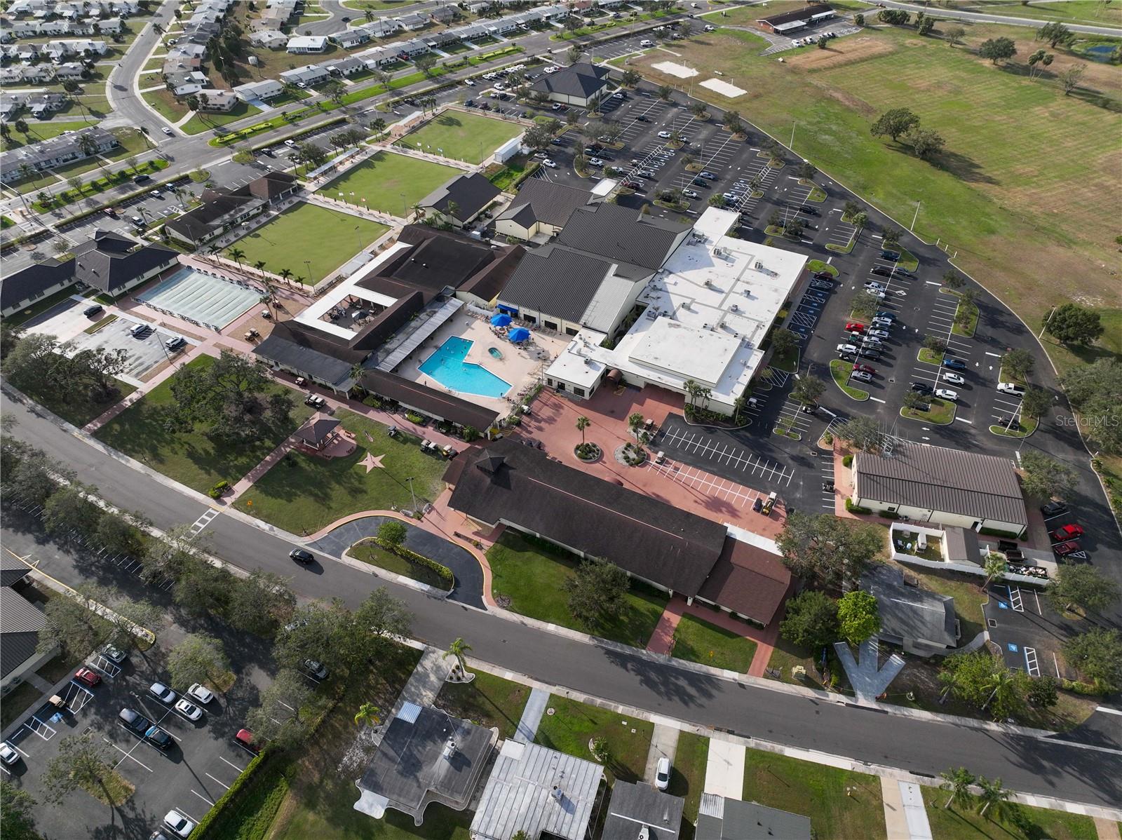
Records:
M72 252L74 256L67 260L48 259L4 277L0 315L7 317L79 284L119 297L180 264L178 251L162 244L141 244L105 230L74 246Z

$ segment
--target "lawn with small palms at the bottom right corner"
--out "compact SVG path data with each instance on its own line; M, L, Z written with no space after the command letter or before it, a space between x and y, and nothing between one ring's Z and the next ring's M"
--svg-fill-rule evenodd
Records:
M994 813L991 806L978 816L981 806L974 802L956 803L945 809L948 794L937 787L923 787L923 804L936 840L974 840L974 838L1051 838L1051 840L1097 840L1095 821L1083 814L1049 811L1006 803ZM1015 815L1014 815L1015 814ZM991 819L992 818L992 819ZM1023 829L1023 830L1022 830Z

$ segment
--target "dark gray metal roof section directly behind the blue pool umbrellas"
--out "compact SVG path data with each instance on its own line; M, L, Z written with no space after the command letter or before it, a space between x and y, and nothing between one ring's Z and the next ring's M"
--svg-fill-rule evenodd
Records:
M553 244L527 251L499 294L499 302L579 323L611 264Z

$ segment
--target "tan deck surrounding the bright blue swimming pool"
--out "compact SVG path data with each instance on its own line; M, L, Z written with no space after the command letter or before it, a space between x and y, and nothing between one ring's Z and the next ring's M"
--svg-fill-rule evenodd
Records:
M511 391L507 396L494 398L484 397L478 394L452 390L436 381L420 369L424 360L443 344L448 339L458 336L471 341L468 353L463 361L469 364L479 364L489 370L495 376L511 384ZM486 321L469 314L458 314L442 324L424 344L422 344L404 362L397 366L394 371L410 381L420 382L430 388L454 394L476 405L490 408L491 410L507 414L513 404L513 397L526 385L536 381L537 375L555 359L567 345L568 341L563 336L545 335L534 330L531 340L525 344L512 344L506 339L496 335L491 326ZM493 357L488 350L498 349L503 353L502 359ZM546 353L549 358L539 358L539 353Z

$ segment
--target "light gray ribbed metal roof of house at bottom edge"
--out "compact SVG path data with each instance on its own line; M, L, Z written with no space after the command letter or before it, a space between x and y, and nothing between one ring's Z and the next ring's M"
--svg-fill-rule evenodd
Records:
M475 840L543 831L585 840L604 768L537 744L503 742L471 821Z

